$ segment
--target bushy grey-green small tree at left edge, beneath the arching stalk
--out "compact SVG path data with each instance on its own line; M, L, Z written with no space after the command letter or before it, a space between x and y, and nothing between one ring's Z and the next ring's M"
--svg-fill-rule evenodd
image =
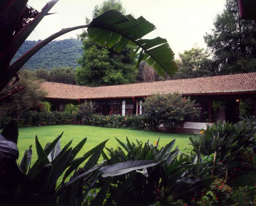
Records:
M25 86L25 88L0 104L1 119L6 117L19 119L23 114L36 107L37 101L44 99L47 93L41 89L38 81L32 71L20 71L20 81L15 86ZM12 89L11 85L6 86L2 92L3 95L8 94Z

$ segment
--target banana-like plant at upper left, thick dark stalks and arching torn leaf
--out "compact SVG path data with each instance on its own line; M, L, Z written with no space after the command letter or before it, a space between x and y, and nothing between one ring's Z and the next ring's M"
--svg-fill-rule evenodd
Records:
M164 75L165 72L174 75L178 70L174 61L174 53L166 39L160 37L152 40L142 39L143 36L156 29L153 24L143 17L135 19L132 15L125 16L116 10L107 11L94 18L88 25L62 29L60 32L39 42L10 65L20 46L38 23L46 15L51 14L49 11L58 1L50 1L41 12L29 7L27 5L28 0L7 0L0 5L0 27L2 28L0 38L0 72L2 74L0 76L0 92L12 77L17 77L15 82L19 80L17 72L39 49L55 38L80 28L87 28L89 37L95 42L106 47L116 45L115 50L117 52L121 52L127 44L137 46L134 54L141 49L137 66L142 60L145 60L161 75ZM12 94L21 89L15 87Z

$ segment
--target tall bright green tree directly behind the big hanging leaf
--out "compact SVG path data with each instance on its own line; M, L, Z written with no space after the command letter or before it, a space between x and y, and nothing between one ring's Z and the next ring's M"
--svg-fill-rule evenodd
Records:
M116 9L125 13L119 0L107 0L96 5L92 11L92 18L96 18L106 11ZM89 19L86 20L89 22ZM126 46L121 53L114 48L106 48L88 38L83 31L78 36L83 40L83 56L78 59L80 65L76 68L76 82L78 85L100 86L121 85L134 83L138 70L135 66L136 56L131 57L135 48Z

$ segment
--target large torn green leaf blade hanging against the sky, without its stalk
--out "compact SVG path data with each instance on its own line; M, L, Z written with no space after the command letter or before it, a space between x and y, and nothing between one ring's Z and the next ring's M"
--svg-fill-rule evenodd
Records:
M141 48L138 62L145 60L163 75L164 71L174 75L178 66L174 61L174 53L166 39L141 39L156 27L145 18L133 18L132 15L123 15L119 11L110 10L94 18L88 26L88 35L94 41L113 47L118 42L115 50L121 52L127 44ZM137 64L138 65L138 64Z

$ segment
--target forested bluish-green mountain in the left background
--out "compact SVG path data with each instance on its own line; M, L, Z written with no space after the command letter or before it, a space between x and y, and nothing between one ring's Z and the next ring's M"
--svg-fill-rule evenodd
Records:
M12 61L15 61L21 55L26 53L38 41L25 41L20 47ZM29 61L23 66L25 69L51 69L60 66L73 66L78 64L76 60L83 55L82 42L76 39L54 40L41 48Z

